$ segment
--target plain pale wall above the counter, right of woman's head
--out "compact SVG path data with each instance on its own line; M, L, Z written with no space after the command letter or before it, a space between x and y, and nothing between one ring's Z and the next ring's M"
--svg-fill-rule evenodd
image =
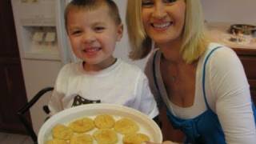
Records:
M256 24L256 0L201 0L208 22Z

